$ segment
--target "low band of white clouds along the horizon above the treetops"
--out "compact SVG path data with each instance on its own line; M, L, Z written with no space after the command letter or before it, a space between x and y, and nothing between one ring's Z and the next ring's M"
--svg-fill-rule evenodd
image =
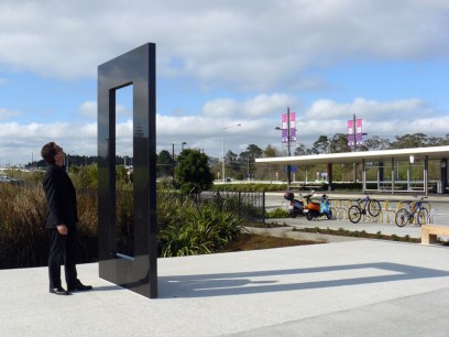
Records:
M276 95L273 96L277 97ZM264 101L265 98L261 100ZM250 101L258 102L259 100ZM280 105L284 104L283 99L274 99L273 101ZM270 102L269 100L267 104ZM248 101L240 102L241 107L247 104ZM239 104L237 105L239 106ZM368 106L371 109L370 111L373 111L372 115L362 117L363 132L368 132L368 138L379 135L394 140L395 135L406 133L419 132L429 137L445 137L448 133L449 113L442 117L417 117L418 113L415 110L419 111L423 107L430 109L419 100L379 102L359 98L351 104L317 101L310 106L307 115L303 116L297 112L297 143L311 146L321 134L331 137L335 133L347 133L347 120L351 119L352 116L341 111L347 111L346 108L351 110L361 106ZM388 115L388 109L395 111L394 118L385 117ZM187 142L187 148L201 149L208 155L221 157L223 141L226 152L230 150L238 154L245 151L249 144L256 144L261 149L272 144L282 151L285 149L281 144L281 132L275 130L275 127L280 124L283 112L278 111L274 116L258 118L250 115L185 117L157 115L156 151L157 153L162 150L172 152L172 144L175 142L175 152L178 153L180 143ZM385 118L382 118L382 116ZM412 118L412 116L415 117ZM234 127L239 123L240 127ZM130 155L132 121L118 122L116 130L118 154L125 153ZM41 146L48 141L61 143L69 154L96 155L97 123L0 123L0 142L2 144L0 146L0 166L8 162L28 163L31 153L34 153L36 160ZM296 144L293 143L292 146L294 148ZM25 161L25 159L28 160Z

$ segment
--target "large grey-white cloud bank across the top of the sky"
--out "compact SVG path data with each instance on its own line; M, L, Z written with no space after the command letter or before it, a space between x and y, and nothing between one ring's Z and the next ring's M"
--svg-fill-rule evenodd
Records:
M319 84L306 67L348 58L447 59L448 11L443 0L3 0L0 64L95 77L99 64L155 42L158 76L193 77L201 87L300 87Z

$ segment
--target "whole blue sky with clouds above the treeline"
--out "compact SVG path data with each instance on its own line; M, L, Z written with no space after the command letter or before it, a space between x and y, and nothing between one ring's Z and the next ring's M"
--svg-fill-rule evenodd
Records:
M96 155L98 66L149 42L157 153L285 153L287 108L307 146L354 115L368 138L445 138L448 32L447 0L2 0L0 166L48 141ZM132 88L119 91L117 152L131 155Z

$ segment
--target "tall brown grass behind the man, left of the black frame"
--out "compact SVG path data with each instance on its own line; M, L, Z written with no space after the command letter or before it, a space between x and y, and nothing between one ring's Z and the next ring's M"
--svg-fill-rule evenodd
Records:
M77 197L79 261L92 262L98 259L97 193L81 191ZM41 172L30 173L20 186L0 184L0 269L47 264L46 214Z

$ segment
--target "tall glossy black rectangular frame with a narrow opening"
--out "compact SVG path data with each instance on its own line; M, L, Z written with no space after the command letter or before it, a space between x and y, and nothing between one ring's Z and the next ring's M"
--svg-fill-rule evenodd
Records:
M99 276L157 297L156 46L144 44L98 66ZM133 257L117 251L116 91L133 86Z

